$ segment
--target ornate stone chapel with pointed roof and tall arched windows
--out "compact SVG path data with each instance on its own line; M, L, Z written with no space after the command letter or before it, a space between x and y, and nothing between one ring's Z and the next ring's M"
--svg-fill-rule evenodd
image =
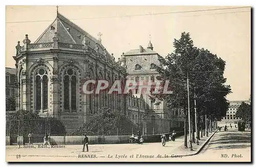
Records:
M40 116L52 115L78 124L76 120L89 118L102 106L125 112L124 94L89 95L82 91L83 82L89 79L111 83L119 79L124 84L125 68L115 62L101 39L57 12L34 43L26 35L23 44L18 42L13 57L19 83L16 110L33 110Z

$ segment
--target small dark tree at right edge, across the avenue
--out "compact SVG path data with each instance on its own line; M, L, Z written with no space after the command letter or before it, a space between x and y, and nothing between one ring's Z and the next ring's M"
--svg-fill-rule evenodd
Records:
M251 104L247 104L245 102L242 102L242 104L238 107L237 118L242 118L242 120L245 121L245 124L251 122Z

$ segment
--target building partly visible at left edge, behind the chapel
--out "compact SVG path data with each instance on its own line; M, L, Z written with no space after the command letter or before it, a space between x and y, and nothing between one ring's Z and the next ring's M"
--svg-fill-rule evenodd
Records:
M17 87L15 85L16 68L5 68L5 95L15 96Z

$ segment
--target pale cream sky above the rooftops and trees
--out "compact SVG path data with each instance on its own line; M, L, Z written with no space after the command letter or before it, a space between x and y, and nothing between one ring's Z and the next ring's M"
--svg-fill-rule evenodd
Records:
M116 59L139 45L146 48L149 40L165 57L174 50L174 39L190 33L195 46L226 62L224 77L233 92L227 99L248 100L251 13L249 7L237 7L241 6L59 6L58 11L96 39L100 32L101 43ZM33 43L55 18L55 6L7 6L6 67L15 67L17 41L22 43L28 34Z

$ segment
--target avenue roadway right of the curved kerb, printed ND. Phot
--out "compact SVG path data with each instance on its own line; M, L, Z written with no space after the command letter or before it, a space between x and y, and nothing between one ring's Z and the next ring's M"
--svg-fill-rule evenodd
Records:
M198 161L250 161L251 132L229 130L217 132L200 154L184 157Z

